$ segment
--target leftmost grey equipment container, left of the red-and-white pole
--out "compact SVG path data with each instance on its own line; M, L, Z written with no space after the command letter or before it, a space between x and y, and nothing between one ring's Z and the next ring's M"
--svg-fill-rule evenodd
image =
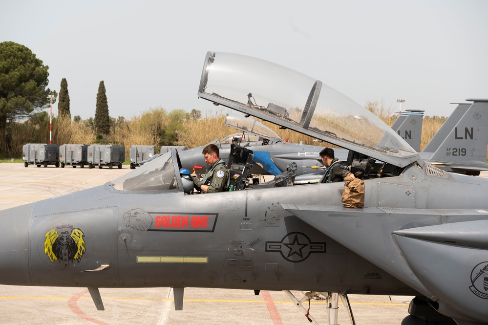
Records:
M22 160L25 167L29 165L59 167L59 146L57 144L28 143L22 146Z

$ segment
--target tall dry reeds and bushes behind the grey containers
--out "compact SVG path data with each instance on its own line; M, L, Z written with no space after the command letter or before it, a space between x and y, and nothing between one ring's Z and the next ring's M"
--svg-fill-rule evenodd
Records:
M379 116L387 125L391 126L396 116L391 109L384 108L383 102L368 102L365 106ZM187 146L194 148L203 146L215 138L222 138L237 130L224 125L225 111L219 110L212 114L202 115L200 111L191 113L182 109L167 111L164 108L152 108L140 116L129 120L119 116L110 118L110 132L98 138L94 128L93 118L81 120L75 116L74 121L65 117L53 117L52 142L62 144L114 144L126 147L129 156L131 145L152 145L157 151L161 146ZM445 117L425 116L422 128L423 149L432 136L446 121ZM326 143L314 142L314 139L299 134L293 130L280 130L278 126L264 122L275 131L283 141L307 145L327 146ZM5 153L6 158L19 158L22 146L26 143L49 143L49 115L46 112L35 114L31 119L19 124L9 125L12 135L10 148L12 152Z

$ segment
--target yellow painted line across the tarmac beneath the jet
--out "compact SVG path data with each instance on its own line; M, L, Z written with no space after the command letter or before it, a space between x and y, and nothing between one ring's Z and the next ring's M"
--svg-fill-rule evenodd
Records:
M71 297L9 297L0 296L0 299L13 299L13 300L68 300ZM91 298L80 298L80 300L91 301ZM155 302L172 302L173 299L148 299L148 298L103 298L106 301L155 301ZM191 303L266 303L264 300L229 300L229 299L184 299L185 302ZM292 301L274 301L274 303L290 304ZM304 302L303 304L308 303ZM325 301L312 301L312 304L325 304ZM377 305L377 306L408 306L409 303L351 303L351 305ZM294 303L293 303L294 304ZM342 304L339 302L339 304Z

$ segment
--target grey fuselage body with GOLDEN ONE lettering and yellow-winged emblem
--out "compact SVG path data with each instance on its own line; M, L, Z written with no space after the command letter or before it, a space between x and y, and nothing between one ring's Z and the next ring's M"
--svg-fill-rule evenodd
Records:
M488 180L445 175L412 165L399 177L366 180L365 207L484 205ZM343 188L340 182L185 195L117 191L107 183L4 210L0 282L414 294L281 206L340 207ZM454 189L472 195L454 203ZM103 264L109 266L90 271Z

